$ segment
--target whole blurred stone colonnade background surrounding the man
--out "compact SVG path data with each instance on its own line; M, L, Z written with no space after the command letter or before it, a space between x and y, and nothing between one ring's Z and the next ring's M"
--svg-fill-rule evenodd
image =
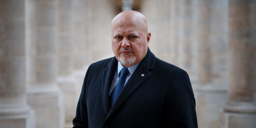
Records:
M256 127L256 0L0 0L0 127L72 127L128 9L147 17L151 51L188 72L199 128Z

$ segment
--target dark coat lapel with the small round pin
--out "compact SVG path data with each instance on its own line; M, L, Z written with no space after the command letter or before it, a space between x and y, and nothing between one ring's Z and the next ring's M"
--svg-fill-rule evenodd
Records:
M127 81L126 85L117 97L114 105L109 111L106 118L108 118L132 93L148 78L151 73L148 71L154 68L156 57L153 53L148 52L143 58L137 69L133 72L130 79ZM142 75L144 74L144 75ZM112 80L112 79L111 79ZM104 99L103 99L104 100Z

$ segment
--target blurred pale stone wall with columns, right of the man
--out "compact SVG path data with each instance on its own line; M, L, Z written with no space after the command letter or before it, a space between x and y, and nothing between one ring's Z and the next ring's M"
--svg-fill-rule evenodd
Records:
M144 0L139 8L155 55L188 72L199 128L255 127L254 7L246 0Z

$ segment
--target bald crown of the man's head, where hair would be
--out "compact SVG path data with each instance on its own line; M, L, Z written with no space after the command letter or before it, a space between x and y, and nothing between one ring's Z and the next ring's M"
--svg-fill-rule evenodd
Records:
M147 18L140 12L127 10L117 14L111 22L111 31L115 25L127 24L140 26L146 33L148 31Z

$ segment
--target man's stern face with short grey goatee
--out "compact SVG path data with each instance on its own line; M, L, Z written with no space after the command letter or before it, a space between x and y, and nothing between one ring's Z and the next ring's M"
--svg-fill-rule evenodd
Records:
M123 66L136 65L145 57L151 36L146 25L138 19L121 18L112 23L111 30L112 50Z

